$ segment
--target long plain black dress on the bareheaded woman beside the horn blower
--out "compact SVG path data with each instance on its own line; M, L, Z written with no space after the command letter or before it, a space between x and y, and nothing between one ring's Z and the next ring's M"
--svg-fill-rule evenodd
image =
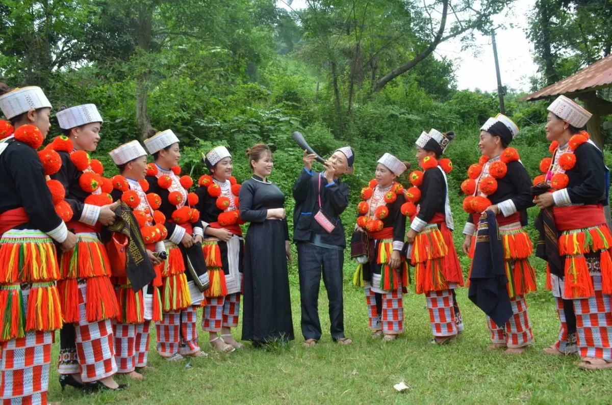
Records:
M242 340L293 340L285 241L286 220L267 220L267 210L283 208L277 185L253 176L240 189L240 215L250 222L244 248Z

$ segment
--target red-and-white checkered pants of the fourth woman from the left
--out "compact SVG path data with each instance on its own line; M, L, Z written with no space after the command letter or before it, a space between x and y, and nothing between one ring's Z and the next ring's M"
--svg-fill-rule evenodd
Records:
M171 357L176 353L189 355L200 351L197 310L197 306L191 306L184 310L162 313L162 321L155 323L157 351L160 355Z

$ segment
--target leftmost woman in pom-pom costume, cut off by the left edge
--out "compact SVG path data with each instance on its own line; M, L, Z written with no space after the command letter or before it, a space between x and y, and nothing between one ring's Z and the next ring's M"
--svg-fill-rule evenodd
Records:
M54 242L70 250L76 236L56 214L63 191L45 175L61 165L53 150L36 153L51 126L40 87L10 91L0 83L0 399L47 404L51 344L62 327Z

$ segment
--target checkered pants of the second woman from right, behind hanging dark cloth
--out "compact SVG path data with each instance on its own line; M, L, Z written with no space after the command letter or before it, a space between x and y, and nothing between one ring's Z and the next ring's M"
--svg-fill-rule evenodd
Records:
M487 316L487 325L491 332L491 342L506 344L507 347L524 347L531 344L534 334L531 330L531 321L527 311L527 302L524 295L517 295L510 299L512 316L504 327L499 327L493 319Z

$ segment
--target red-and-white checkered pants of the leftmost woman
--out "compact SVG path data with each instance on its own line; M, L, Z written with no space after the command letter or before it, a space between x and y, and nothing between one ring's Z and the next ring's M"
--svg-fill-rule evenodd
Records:
M2 404L47 404L52 343L51 332L26 332L2 343Z

